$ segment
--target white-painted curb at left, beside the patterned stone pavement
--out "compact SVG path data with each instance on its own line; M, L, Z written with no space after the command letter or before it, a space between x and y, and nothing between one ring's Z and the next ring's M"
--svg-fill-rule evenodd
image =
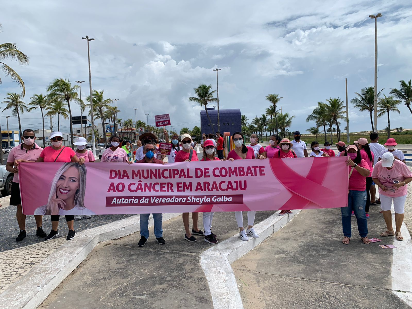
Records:
M181 213L166 213L163 222ZM140 231L140 215L87 229L63 244L45 260L30 269L0 295L2 309L35 309L89 255L101 241L118 239ZM149 227L153 218L149 219ZM68 257L71 256L71 259Z

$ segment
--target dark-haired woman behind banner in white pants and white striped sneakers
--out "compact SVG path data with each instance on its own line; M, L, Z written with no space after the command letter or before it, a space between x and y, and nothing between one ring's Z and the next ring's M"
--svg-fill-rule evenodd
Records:
M233 133L232 139L235 148L227 154L227 159L255 159L255 151L253 150L253 148L247 147L243 144L244 138L241 132ZM259 159L265 159L265 156L259 155ZM246 229L246 232L243 228L243 213L241 211L235 211L234 215L236 218L237 226L240 230L239 237L241 240L248 241L249 238L247 234L249 234L253 238L259 238L258 233L256 233L255 229L253 228L253 224L255 223L256 211L248 211L248 228Z

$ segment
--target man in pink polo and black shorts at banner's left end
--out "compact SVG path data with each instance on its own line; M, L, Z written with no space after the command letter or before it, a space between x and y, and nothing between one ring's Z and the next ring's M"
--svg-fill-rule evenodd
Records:
M10 150L9 156L7 157L6 170L10 173L14 173L12 182L12 194L10 196L10 205L17 206L17 223L19 224L19 236L16 237L16 241L22 241L26 237L26 215L23 215L21 209L21 199L20 199L20 187L19 187L19 170L14 167L14 161L18 159L23 159L27 161L35 162L37 158L42 153L43 148L39 147L34 141L36 139L34 131L31 129L26 129L23 131L23 141L20 145L14 147ZM44 238L47 234L42 229L42 215L34 216L37 225L36 235Z

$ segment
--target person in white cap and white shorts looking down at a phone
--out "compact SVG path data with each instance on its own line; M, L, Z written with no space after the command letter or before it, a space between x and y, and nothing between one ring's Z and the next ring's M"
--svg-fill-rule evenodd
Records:
M382 160L378 161L372 173L373 181L379 187L379 197L387 230L380 236L396 236L397 240L403 240L400 227L403 222L403 211L407 196L407 184L412 180L412 172L405 163L396 160L393 154L386 152ZM396 231L392 226L392 202L395 208Z

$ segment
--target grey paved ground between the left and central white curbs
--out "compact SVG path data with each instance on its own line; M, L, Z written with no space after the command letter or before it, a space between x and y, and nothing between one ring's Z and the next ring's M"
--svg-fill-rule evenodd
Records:
M255 224L273 213L257 212ZM243 212L244 222L246 215ZM199 214L203 230L201 218ZM39 308L213 308L199 256L214 245L202 236L196 236L195 243L184 240L181 216L164 222L163 246L155 242L153 228L149 230L150 237L140 248L139 233L100 243ZM219 241L236 230L234 213L215 213L213 232Z

